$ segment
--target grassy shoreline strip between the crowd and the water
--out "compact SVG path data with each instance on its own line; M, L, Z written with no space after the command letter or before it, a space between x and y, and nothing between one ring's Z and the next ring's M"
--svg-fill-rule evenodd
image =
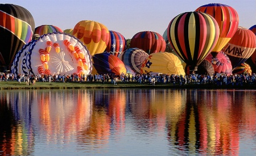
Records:
M168 83L156 83L152 86L150 84L139 84L138 82L119 82L114 85L111 82L36 82L35 85L26 85L26 82L18 83L17 81L0 82L0 90L47 90L47 89L112 89L112 88L138 88L138 89L234 89L234 90L256 90L256 84L244 83L243 85L213 85L213 84L198 84L190 83L184 85Z

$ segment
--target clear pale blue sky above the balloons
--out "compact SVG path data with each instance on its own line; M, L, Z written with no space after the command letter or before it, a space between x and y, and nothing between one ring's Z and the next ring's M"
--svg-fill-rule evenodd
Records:
M117 31L131 39L140 31L154 31L163 35L171 19L176 15L195 11L208 3L232 6L240 17L239 26L250 28L256 24L255 0L1 0L13 3L31 12L35 27L52 24L69 29L81 20L94 20L109 30Z

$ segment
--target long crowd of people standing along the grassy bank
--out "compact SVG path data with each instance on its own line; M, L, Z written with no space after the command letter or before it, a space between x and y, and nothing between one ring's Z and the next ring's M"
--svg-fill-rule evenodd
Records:
M213 75L203 75L203 74L190 74L190 75L175 75L175 74L136 74L135 76L131 74L55 74L55 75L40 75L31 74L24 75L5 73L0 75L0 81L18 81L26 82L26 85L35 85L35 82L111 82L114 85L118 83L134 82L140 84L172 84L172 85L186 85L191 83L197 84L213 84L217 86L221 85L243 85L246 83L253 84L256 83L256 75L252 74L213 74Z

